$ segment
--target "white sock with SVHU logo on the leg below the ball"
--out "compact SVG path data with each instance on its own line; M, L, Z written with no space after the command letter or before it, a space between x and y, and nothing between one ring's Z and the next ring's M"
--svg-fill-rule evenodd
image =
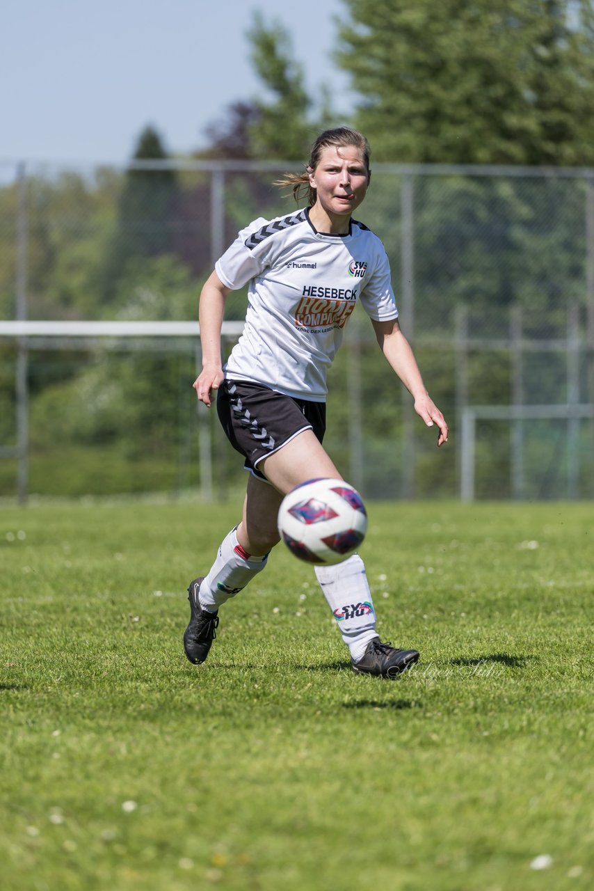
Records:
M342 639L351 657L358 662L367 644L378 637L365 565L359 554L353 554L335 566L316 566L314 569Z

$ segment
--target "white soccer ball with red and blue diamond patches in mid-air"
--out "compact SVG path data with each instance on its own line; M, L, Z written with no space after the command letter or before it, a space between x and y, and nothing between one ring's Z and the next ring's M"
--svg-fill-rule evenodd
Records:
M282 499L279 534L299 560L340 563L367 531L362 497L344 479L309 479Z

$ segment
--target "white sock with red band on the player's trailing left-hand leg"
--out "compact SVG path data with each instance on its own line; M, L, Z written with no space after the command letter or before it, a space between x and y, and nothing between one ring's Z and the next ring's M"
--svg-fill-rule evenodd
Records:
M200 584L200 606L208 612L216 612L226 601L239 594L258 572L262 572L268 560L268 554L254 557L244 551L237 541L236 528L232 528L223 539L215 562Z

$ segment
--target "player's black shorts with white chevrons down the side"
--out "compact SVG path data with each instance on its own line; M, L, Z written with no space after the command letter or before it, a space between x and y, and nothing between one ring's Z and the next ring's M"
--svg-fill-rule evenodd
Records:
M224 380L216 411L229 442L254 476L265 479L258 462L278 452L302 430L312 429L321 442L326 432L326 404L277 393L246 380Z

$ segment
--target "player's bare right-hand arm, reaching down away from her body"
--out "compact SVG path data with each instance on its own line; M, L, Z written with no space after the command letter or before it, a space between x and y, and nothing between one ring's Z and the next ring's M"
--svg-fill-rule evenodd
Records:
M415 412L425 421L427 427L433 427L436 424L439 428L437 445L442 446L448 441L448 425L443 419L443 414L427 393L427 388L419 372L419 365L410 343L400 330L398 320L376 322L372 319L371 323L378 340L378 346L386 356L388 364L394 369L414 399Z

